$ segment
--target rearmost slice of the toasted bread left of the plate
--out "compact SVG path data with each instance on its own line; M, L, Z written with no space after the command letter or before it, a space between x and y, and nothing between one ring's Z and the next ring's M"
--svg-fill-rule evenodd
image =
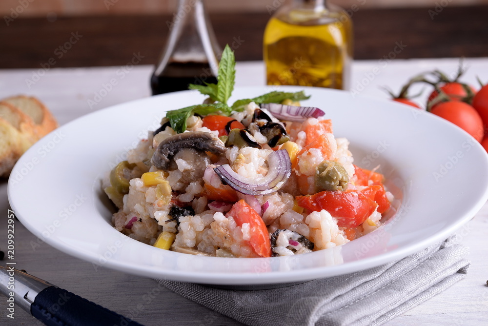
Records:
M34 97L19 95L3 99L2 102L7 102L17 107L22 113L32 119L34 122L34 131L38 139L41 139L58 127L58 122L56 122L51 112Z

